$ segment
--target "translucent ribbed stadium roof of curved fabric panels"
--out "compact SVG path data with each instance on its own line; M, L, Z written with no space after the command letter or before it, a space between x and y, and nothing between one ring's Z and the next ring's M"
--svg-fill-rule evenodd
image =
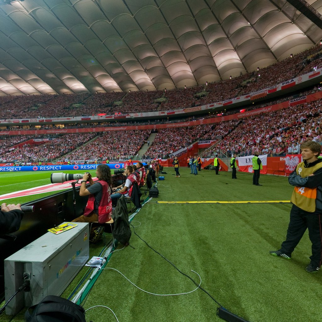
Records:
M309 12L298 3L0 0L0 95L162 90L238 76L320 41L322 0Z

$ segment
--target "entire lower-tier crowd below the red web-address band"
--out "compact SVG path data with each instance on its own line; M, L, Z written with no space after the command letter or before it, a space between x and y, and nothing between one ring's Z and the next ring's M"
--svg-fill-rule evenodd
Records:
M270 156L297 154L299 145L306 140L322 142L321 113L322 99L217 124L160 129L147 153L139 157L167 158L169 154L189 147L198 140L221 140L214 150L207 151L204 156L216 153L226 156L237 153L244 156L255 152ZM42 158L57 158L72 151L65 156L66 159L123 160L138 156L137 152L147 142L150 130L103 132L94 141L83 145L95 135L97 133L64 135L51 143L32 147L24 145L14 150L10 146L20 143L22 136L6 137L2 140L4 150L1 150L0 159L3 162L35 162ZM81 147L73 151L77 146Z

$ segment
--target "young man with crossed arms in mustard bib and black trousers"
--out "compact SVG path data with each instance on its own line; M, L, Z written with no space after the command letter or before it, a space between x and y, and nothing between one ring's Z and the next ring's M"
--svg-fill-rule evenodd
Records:
M301 144L301 150L304 161L289 175L289 183L294 190L286 240L278 251L270 251L270 254L291 259L292 252L308 229L312 256L305 270L316 273L322 263L322 160L317 158L321 145L307 141Z

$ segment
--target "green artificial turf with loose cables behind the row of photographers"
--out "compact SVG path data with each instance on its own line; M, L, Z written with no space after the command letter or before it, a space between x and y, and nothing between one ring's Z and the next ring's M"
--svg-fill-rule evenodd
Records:
M202 170L197 176L180 168L165 168L158 181L158 198L145 204L134 217L135 232L209 292L221 305L251 322L321 321L321 272L309 274L311 244L307 233L291 260L273 257L289 222L290 203L238 203L239 201L289 200L292 187L285 177L261 175L252 185L252 175ZM157 201L230 201L227 204L158 204ZM110 234L105 233L106 239ZM216 316L218 305L202 290L178 296L147 294L130 284L115 268L142 289L158 294L184 293L195 285L156 254L133 233L130 244L118 245L101 273L85 309L94 305L111 308L119 321L223 321ZM96 255L101 241L91 246ZM122 249L122 250L121 250ZM84 268L63 293L68 297L84 274ZM23 321L2 315L0 321ZM87 321L115 321L106 308L93 308Z

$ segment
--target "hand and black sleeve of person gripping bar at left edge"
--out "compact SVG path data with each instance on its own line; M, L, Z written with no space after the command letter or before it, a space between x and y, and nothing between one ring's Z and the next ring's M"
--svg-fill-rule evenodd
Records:
M2 204L0 212L0 235L16 232L20 228L24 213L21 204Z

